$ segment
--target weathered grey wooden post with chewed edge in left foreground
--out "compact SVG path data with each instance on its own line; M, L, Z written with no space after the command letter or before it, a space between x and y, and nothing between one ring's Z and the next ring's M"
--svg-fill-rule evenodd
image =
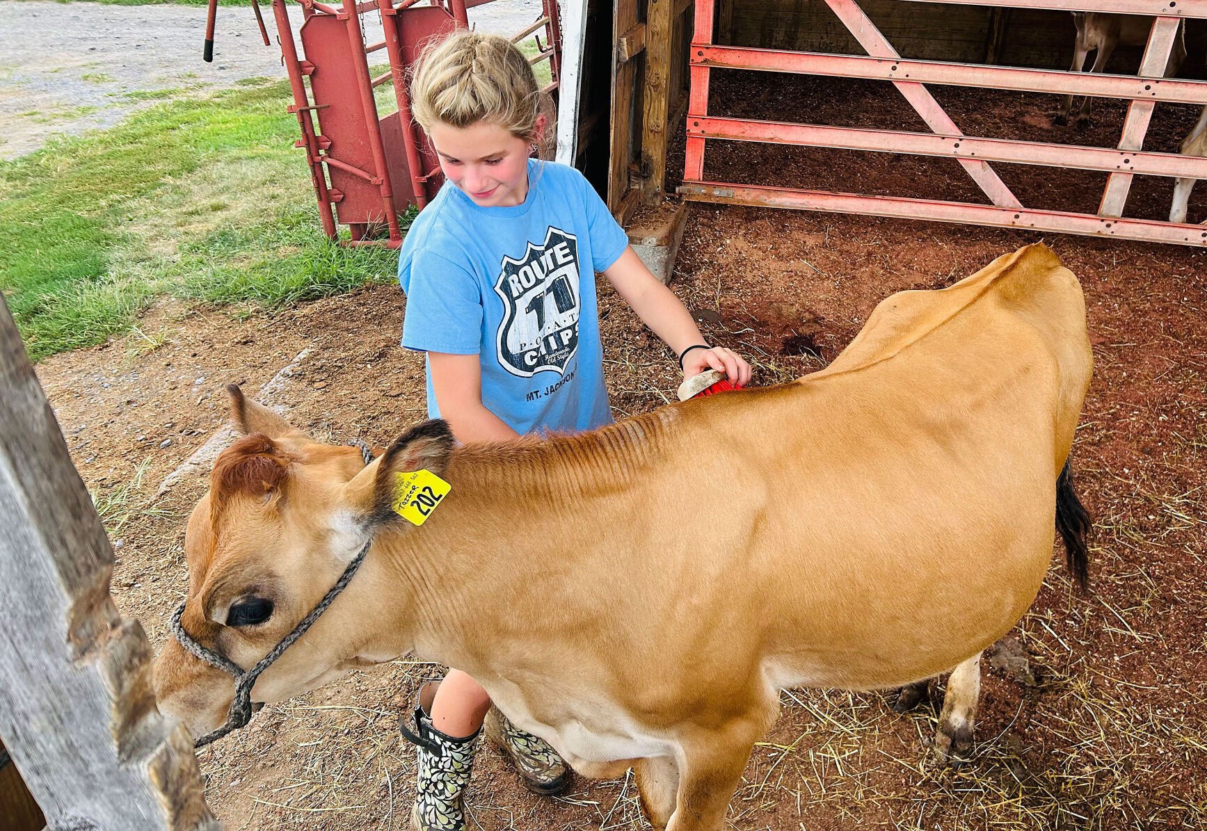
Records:
M151 646L0 299L0 736L54 829L218 831L193 742L156 709Z

